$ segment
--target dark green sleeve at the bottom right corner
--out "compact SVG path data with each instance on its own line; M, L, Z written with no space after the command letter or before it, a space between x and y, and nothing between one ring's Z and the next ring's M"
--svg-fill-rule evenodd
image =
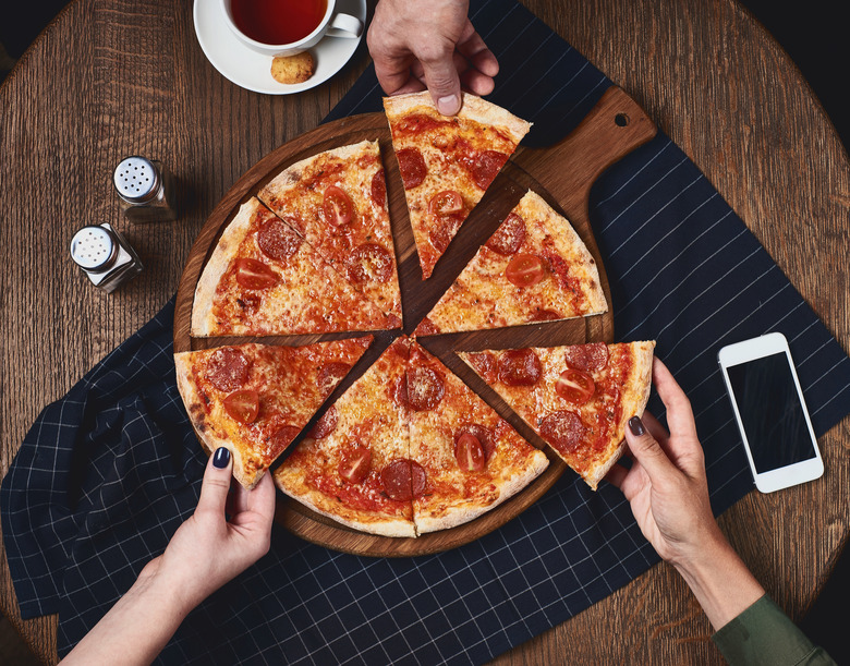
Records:
M712 637L732 666L835 665L766 594Z

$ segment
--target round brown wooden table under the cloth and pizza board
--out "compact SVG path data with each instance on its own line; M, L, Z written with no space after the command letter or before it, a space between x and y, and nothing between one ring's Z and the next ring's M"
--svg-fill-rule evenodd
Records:
M691 156L847 350L850 164L823 109L733 0L524 0L621 85ZM190 246L230 185L313 129L368 63L365 47L298 96L243 90L205 60L190 2L73 2L0 87L0 298L7 324L0 472L48 402L175 291ZM124 155L162 159L194 192L174 223L131 227L110 182ZM73 231L109 221L146 265L106 296L68 258ZM850 420L821 439L825 476L752 493L724 531L791 617L817 595L850 524ZM0 607L54 663L57 618L22 621L5 557ZM675 571L655 567L499 664L720 662Z

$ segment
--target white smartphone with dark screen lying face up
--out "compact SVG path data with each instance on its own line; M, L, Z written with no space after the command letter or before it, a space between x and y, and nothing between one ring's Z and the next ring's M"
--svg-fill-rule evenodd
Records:
M821 476L824 461L785 336L729 344L717 359L755 487L773 493Z

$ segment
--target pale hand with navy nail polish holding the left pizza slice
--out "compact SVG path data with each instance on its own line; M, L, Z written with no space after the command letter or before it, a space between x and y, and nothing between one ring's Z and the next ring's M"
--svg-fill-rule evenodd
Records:
M146 567L150 571L145 573L171 582L186 609L269 549L275 516L271 476L265 474L254 489L246 491L232 482L232 457L226 448L210 456L195 512L178 528L166 552ZM229 521L226 512L231 516Z

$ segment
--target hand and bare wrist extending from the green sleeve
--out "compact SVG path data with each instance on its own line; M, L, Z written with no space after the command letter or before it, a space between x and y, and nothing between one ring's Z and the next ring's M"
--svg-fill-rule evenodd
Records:
M691 403L658 359L653 383L667 407L668 434L652 414L629 421L631 469L606 479L632 506L643 535L682 574L715 629L754 604L764 589L717 526Z

